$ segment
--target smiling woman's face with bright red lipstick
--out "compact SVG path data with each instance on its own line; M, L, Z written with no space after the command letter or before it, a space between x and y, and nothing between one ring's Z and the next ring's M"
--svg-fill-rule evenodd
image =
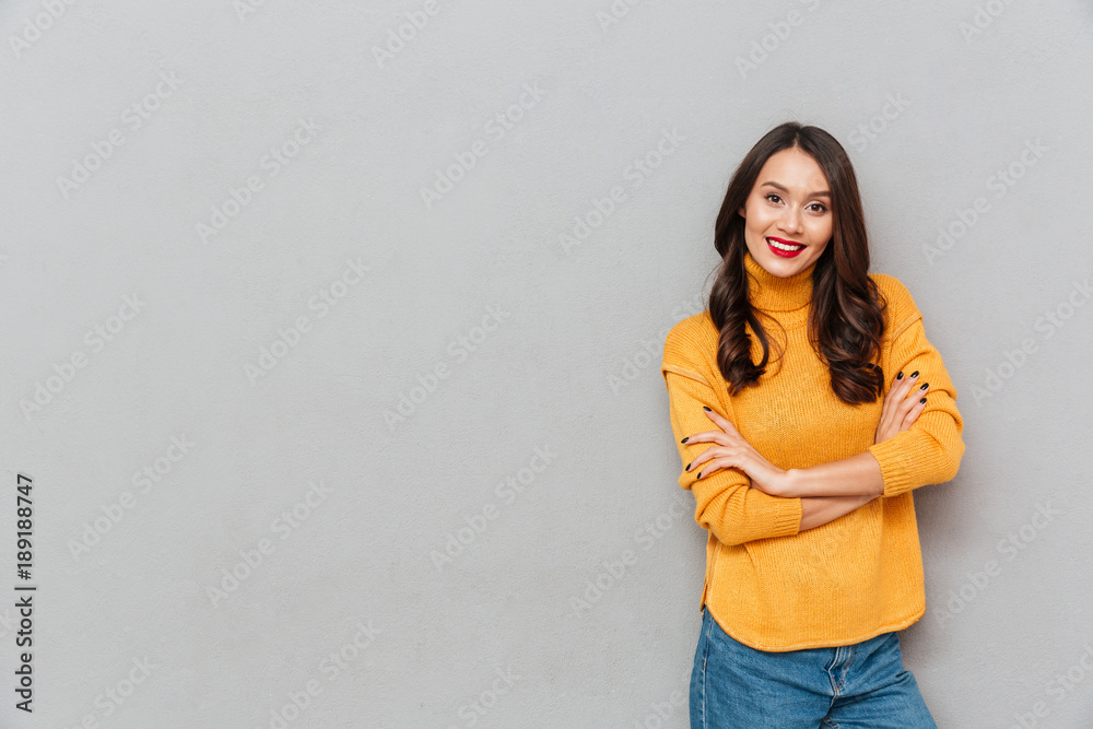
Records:
M831 242L827 178L816 161L797 148L771 155L739 212L752 258L777 277L807 269Z

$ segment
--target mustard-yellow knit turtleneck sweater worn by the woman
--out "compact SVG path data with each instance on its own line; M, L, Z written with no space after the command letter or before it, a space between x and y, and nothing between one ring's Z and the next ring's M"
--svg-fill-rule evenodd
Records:
M900 631L926 612L922 554L912 490L956 474L964 454L956 388L941 355L926 339L922 315L894 277L871 273L889 302L881 366L884 393L896 373L916 369L929 383L927 404L909 430L873 444L883 397L847 405L808 341L815 263L780 279L748 252L750 297L781 322L786 334L760 317L768 338L786 343L776 362L772 343L757 386L737 396L717 368L718 332L703 311L683 319L665 342L661 374L668 388L672 432L680 451L679 485L695 497L695 521L709 531L700 610L737 640L760 650L785 651L859 643ZM752 361L762 346L751 326ZM787 342L788 339L788 342ZM751 487L739 469L701 481L682 470L710 443L681 444L716 428L703 412L729 420L764 458L779 468L807 468L869 450L884 480L884 495L833 521L800 531L801 499Z

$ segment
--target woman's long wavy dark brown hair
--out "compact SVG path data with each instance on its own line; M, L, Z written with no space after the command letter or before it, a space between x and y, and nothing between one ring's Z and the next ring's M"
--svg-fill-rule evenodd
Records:
M769 362L769 342L756 316L767 315L753 308L748 297L748 246L739 210L771 155L789 148L801 150L820 165L830 184L834 215L832 239L812 270L809 342L827 364L831 387L843 402L872 402L884 386L879 355L886 302L868 275L869 242L858 181L846 150L834 137L796 121L775 127L748 152L729 180L717 214L714 247L721 256L721 264L709 292L709 316L720 332L717 367L729 383L729 392L736 395L757 384ZM745 322L763 345L759 364L751 360Z

